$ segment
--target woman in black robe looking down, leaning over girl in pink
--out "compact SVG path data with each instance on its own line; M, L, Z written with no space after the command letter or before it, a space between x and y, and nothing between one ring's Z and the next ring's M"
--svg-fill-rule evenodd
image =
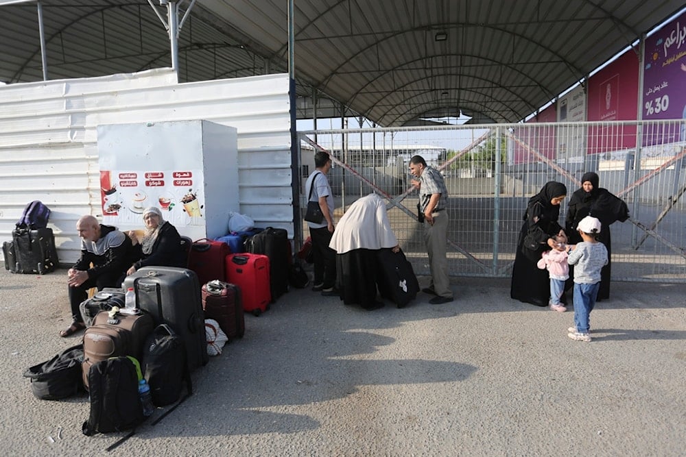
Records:
M560 203L566 196L565 184L549 181L541 188L541 192L529 199L517 240L517 252L514 254L510 286L510 297L513 299L536 306L548 305L548 272L536 267L536 263L543 251L554 246L554 236L565 236L563 227L558 224L558 217Z

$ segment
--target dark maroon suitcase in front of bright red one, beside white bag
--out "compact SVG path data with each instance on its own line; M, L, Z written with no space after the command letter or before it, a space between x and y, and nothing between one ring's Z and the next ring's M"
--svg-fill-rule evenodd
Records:
M243 338L246 320L238 286L218 280L204 284L202 309L205 311L205 319L214 319L219 323L228 336L228 341Z

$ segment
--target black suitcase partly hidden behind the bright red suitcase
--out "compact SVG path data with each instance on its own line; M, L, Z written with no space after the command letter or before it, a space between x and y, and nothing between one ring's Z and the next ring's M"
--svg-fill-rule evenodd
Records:
M290 269L290 245L285 229L267 227L262 232L250 236L245 243L246 252L263 254L269 258L270 289L272 301L288 292L288 273Z

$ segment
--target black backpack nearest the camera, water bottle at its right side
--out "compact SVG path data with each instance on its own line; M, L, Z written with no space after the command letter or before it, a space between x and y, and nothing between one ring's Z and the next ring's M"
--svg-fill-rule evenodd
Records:
M84 435L121 432L143 422L137 364L130 356L113 357L96 362L88 371L91 415L83 424Z

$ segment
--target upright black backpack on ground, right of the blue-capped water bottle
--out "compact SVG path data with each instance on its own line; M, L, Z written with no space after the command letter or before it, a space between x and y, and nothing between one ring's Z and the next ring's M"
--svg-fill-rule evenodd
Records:
M143 378L150 384L152 403L167 406L178 400L183 383L193 393L186 345L167 324L158 325L143 346Z

